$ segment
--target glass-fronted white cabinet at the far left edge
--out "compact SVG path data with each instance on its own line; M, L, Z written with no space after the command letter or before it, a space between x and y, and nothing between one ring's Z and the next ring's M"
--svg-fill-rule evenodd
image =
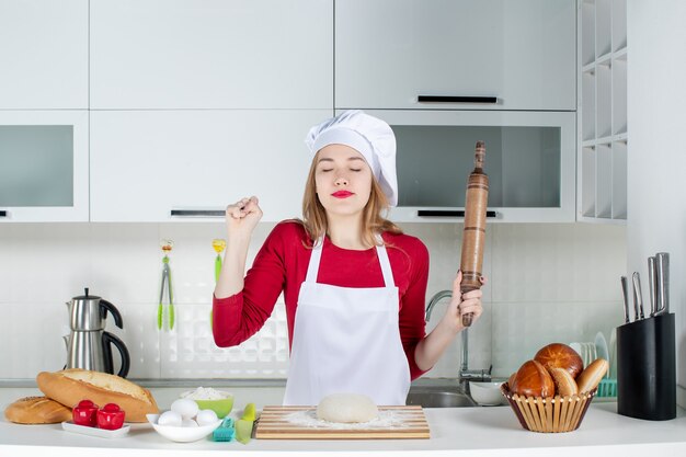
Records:
M87 221L88 111L0 110L0 222Z

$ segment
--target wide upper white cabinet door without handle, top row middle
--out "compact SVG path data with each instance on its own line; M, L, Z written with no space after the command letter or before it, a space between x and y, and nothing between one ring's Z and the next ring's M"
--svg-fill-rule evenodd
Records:
M92 108L329 108L333 4L91 0Z

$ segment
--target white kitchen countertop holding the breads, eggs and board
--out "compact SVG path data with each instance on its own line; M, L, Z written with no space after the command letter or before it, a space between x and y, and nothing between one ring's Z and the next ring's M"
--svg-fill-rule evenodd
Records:
M209 386L205 386L209 387ZM248 402L258 409L281 404L283 387L222 388L235 395L235 410ZM161 410L188 387L150 388ZM26 396L37 396L36 388L0 388L0 408ZM597 399L596 399L597 400ZM216 452L240 452L251 456L317 455L478 455L478 456L549 456L584 457L595 455L645 456L686 455L686 413L678 409L677 418L653 422L626 418L616 413L615 402L595 401L575 432L544 434L523 430L510 407L435 408L425 409L431 439L375 441L265 441L252 439L248 445L237 442L172 443L158 435L149 424L132 424L126 437L107 439L65 432L60 424L19 425L0 420L0 455L28 456L48 452L50 457L130 457L216 455Z

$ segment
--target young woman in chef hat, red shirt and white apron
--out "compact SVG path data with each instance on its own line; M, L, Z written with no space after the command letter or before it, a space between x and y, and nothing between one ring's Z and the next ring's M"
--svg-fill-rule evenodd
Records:
M347 111L312 127L313 159L302 220L278 224L245 277L256 197L226 209L227 250L215 288L214 338L232 346L263 325L284 293L290 361L284 404L318 404L336 392L404 404L411 379L428 370L481 315L481 290L453 300L425 335L428 252L382 214L397 203L396 139L384 121Z

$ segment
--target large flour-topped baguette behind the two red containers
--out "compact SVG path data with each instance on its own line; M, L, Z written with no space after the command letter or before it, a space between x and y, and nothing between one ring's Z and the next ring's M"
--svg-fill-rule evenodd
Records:
M71 368L41 372L36 382L46 397L70 408L84 399L101 408L116 403L125 411L126 422L146 422L146 414L159 412L149 390L116 375Z

